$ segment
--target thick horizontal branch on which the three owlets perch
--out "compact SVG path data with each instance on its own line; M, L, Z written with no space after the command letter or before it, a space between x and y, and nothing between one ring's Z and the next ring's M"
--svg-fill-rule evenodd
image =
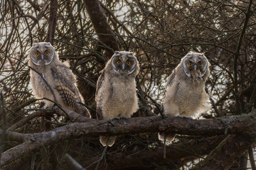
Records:
M23 136L25 142L2 154L1 167L21 158L25 153L31 152L35 148L82 136L88 137L106 134L130 135L141 132L166 131L167 133L173 134L200 136L236 133L254 140L256 136L255 129L256 112L211 120L194 120L189 117L173 116L166 116L163 119L160 116L152 116L135 117L128 120L113 120L111 122L106 120L86 123L75 122L47 132L32 134L17 133Z

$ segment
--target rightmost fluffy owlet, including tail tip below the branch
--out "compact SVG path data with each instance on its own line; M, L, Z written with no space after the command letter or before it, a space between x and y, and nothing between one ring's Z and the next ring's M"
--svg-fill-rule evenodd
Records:
M189 52L168 78L165 89L165 115L197 117L211 109L205 81L209 76L210 63L203 53ZM159 135L164 140L164 133ZM167 141L173 136L166 135Z

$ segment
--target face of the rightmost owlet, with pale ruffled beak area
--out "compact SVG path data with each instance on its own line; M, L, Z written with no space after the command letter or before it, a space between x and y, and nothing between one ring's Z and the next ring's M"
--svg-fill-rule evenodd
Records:
M191 78L194 76L203 77L208 68L208 60L201 53L188 53L184 56L182 63L185 74Z

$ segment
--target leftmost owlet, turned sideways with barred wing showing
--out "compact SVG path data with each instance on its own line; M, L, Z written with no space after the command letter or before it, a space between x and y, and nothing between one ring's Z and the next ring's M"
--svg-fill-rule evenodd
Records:
M33 94L37 99L46 98L45 107L57 102L68 110L91 117L77 89L76 76L66 61L62 63L50 43L36 43L29 53L29 66ZM49 99L49 100L47 100ZM51 101L50 101L51 100Z

